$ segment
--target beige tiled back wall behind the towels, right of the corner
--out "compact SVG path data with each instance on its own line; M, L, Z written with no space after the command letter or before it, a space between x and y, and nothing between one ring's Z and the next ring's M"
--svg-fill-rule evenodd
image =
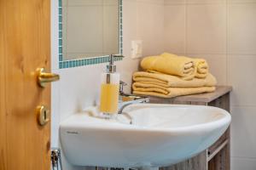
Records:
M232 85L231 168L256 169L256 0L165 0L165 51L208 60Z

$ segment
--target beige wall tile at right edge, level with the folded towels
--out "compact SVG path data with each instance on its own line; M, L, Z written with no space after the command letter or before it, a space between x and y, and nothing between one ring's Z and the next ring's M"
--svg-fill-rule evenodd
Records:
M233 86L231 105L256 105L256 56L228 57L228 84Z

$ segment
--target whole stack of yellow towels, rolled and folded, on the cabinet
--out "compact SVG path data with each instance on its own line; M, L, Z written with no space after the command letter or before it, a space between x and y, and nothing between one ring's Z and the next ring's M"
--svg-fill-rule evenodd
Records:
M164 53L144 58L141 66L144 71L133 74L133 94L172 98L213 92L217 84L205 59Z

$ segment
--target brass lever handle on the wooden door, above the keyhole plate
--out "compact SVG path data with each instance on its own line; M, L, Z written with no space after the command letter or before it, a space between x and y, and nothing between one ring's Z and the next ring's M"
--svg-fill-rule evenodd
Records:
M37 81L41 88L44 88L48 82L55 82L60 80L60 76L54 73L45 72L44 68L38 68Z

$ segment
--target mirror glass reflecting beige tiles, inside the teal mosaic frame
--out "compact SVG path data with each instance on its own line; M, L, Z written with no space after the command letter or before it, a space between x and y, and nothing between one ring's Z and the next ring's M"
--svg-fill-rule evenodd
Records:
M62 0L62 8L64 59L119 54L119 0Z

